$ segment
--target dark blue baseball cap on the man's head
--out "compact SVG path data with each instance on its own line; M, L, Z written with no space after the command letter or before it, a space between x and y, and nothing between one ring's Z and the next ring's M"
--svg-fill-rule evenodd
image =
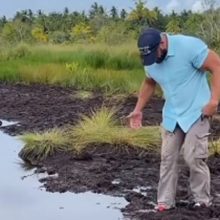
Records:
M154 28L145 29L139 36L138 48L143 64L150 66L156 62L157 49L161 41L161 32Z

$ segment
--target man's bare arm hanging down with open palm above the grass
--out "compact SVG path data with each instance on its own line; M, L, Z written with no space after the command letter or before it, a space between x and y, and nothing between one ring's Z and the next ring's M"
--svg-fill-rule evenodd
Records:
M127 116L131 128L138 129L142 126L142 110L153 95L155 87L156 82L152 78L143 81L134 111Z

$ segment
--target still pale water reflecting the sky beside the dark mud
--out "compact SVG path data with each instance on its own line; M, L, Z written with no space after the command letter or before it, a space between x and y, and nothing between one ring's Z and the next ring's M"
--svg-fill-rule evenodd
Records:
M3 121L3 126L8 125ZM4 220L119 220L123 198L87 193L49 193L41 175L26 170L18 158L23 143L0 132L0 219Z

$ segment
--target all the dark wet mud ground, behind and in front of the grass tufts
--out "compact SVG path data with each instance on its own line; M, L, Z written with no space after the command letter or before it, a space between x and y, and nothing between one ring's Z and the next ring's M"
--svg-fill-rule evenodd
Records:
M77 98L77 91L39 85L0 84L0 118L18 121L4 131L17 135L27 131L43 131L48 128L75 124L80 115L102 105L120 106L117 117L127 115L134 107L135 96L104 98L94 93L89 99ZM153 98L144 110L144 124L159 125L163 101ZM220 135L220 123L214 120L212 138ZM93 191L113 196L123 196L129 204L123 208L125 217L135 220L217 220L220 219L220 156L209 158L212 178L213 206L191 210L188 189L189 171L180 159L181 172L177 190L177 208L155 213L160 155L124 146L94 144L81 155L56 153L39 162L37 172L48 172L49 177L40 181L51 192ZM58 175L53 175L58 174Z

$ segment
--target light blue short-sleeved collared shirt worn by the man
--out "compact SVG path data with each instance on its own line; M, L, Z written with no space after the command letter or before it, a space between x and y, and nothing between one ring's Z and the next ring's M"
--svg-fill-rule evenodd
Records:
M201 66L209 49L200 39L167 35L168 52L162 63L145 66L145 73L162 88L165 98L163 127L173 132L176 124L187 132L201 116L211 97L207 74Z

